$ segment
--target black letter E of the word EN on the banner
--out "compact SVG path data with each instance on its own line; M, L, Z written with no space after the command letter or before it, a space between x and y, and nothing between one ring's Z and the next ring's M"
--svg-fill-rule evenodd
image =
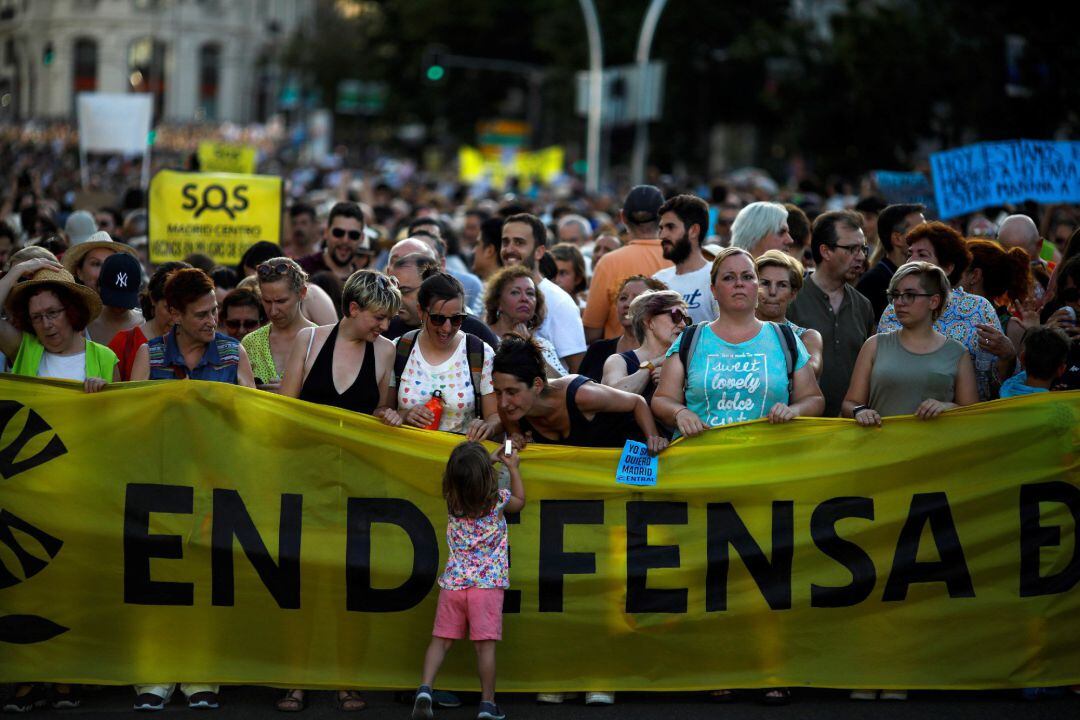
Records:
M124 602L194 604L194 584L150 580L150 560L184 557L180 535L151 535L151 513L190 515L194 488L178 485L127 485L124 499Z

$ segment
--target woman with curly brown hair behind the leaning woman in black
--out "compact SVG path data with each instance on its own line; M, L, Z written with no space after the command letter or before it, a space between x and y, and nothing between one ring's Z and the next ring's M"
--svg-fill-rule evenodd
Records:
M530 338L543 353L549 379L566 375L555 347L535 331L548 315L543 293L532 280L532 271L524 266L503 268L487 281L484 291L484 321L496 337L517 335Z

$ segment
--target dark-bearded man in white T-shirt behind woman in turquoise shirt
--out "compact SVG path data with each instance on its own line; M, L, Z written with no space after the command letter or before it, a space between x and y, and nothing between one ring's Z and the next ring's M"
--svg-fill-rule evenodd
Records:
M701 254L701 241L708 228L708 205L694 195L675 195L660 206L660 248L664 259L675 263L654 275L683 295L694 323L711 323L719 309L710 283L710 267Z

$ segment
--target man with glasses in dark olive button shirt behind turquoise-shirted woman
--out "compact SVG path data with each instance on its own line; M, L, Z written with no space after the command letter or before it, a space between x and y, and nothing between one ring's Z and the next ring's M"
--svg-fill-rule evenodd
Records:
M859 351L877 331L874 307L850 285L862 275L869 254L862 225L854 210L818 216L810 233L818 269L787 307L787 320L821 332L821 390L829 418L840 413Z

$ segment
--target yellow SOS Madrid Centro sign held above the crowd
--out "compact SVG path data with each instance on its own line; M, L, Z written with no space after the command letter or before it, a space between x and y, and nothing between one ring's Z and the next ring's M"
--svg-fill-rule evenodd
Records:
M280 243L282 189L269 175L159 172L150 180L150 261L202 253L235 264L260 240Z

